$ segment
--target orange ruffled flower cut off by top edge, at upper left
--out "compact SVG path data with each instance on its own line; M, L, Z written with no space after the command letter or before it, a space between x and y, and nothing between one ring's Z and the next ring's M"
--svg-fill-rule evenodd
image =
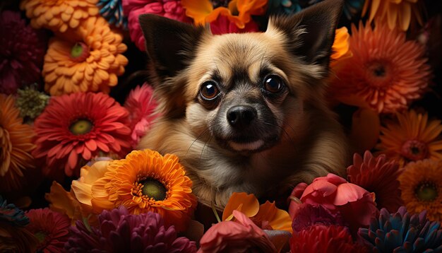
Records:
M47 28L64 33L77 28L91 16L98 16L98 0L23 0L20 8L26 11L33 28Z

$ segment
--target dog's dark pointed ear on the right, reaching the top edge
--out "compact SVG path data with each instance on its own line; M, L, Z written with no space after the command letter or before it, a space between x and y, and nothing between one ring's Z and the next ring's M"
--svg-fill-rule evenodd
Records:
M286 47L307 64L328 66L335 40L343 0L325 0L293 16L270 18L268 33L280 32L286 37Z

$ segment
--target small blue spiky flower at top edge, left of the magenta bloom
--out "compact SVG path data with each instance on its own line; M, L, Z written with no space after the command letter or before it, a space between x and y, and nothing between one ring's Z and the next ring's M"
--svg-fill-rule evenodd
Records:
M127 29L127 18L123 13L122 0L99 0L97 6L100 14L111 25L117 28Z

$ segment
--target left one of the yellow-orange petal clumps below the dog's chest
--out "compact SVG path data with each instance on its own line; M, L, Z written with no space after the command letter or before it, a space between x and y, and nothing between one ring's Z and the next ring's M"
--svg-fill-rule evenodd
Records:
M255 216L259 210L258 199L256 199L256 196L253 194L234 192L222 212L222 220L231 220L234 210L241 211L241 213L244 213L247 217Z

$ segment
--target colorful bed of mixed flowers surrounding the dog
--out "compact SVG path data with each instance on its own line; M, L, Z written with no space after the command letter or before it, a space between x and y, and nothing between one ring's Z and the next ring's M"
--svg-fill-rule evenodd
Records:
M246 33L316 2L2 1L0 252L442 252L439 1L345 0L328 98L346 178L217 210L179 157L135 150L160 113L139 15Z

